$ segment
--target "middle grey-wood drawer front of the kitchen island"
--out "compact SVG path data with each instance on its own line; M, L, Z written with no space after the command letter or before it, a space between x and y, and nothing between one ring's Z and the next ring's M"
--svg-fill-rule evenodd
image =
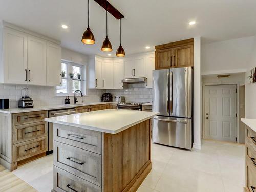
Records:
M54 141L54 165L101 186L101 155Z

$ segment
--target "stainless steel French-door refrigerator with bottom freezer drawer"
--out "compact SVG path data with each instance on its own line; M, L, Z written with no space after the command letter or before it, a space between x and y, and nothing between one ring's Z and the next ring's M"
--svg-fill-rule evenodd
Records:
M153 71L153 142L191 150L193 68ZM200 114L199 114L200 115Z

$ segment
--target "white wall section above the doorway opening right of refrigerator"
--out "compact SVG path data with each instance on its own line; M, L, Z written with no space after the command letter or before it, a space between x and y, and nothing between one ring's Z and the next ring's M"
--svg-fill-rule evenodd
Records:
M202 45L202 75L246 72L254 37Z

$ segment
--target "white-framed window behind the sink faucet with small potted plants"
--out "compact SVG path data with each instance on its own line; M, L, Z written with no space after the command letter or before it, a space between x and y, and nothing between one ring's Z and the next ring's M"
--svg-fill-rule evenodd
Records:
M57 95L72 95L75 90L83 91L83 66L71 62L61 63L62 84L57 86Z

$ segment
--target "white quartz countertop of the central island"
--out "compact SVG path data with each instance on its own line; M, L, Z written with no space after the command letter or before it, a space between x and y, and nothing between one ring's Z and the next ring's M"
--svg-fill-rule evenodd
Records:
M45 121L116 134L158 114L158 112L107 109L51 117L46 118Z

